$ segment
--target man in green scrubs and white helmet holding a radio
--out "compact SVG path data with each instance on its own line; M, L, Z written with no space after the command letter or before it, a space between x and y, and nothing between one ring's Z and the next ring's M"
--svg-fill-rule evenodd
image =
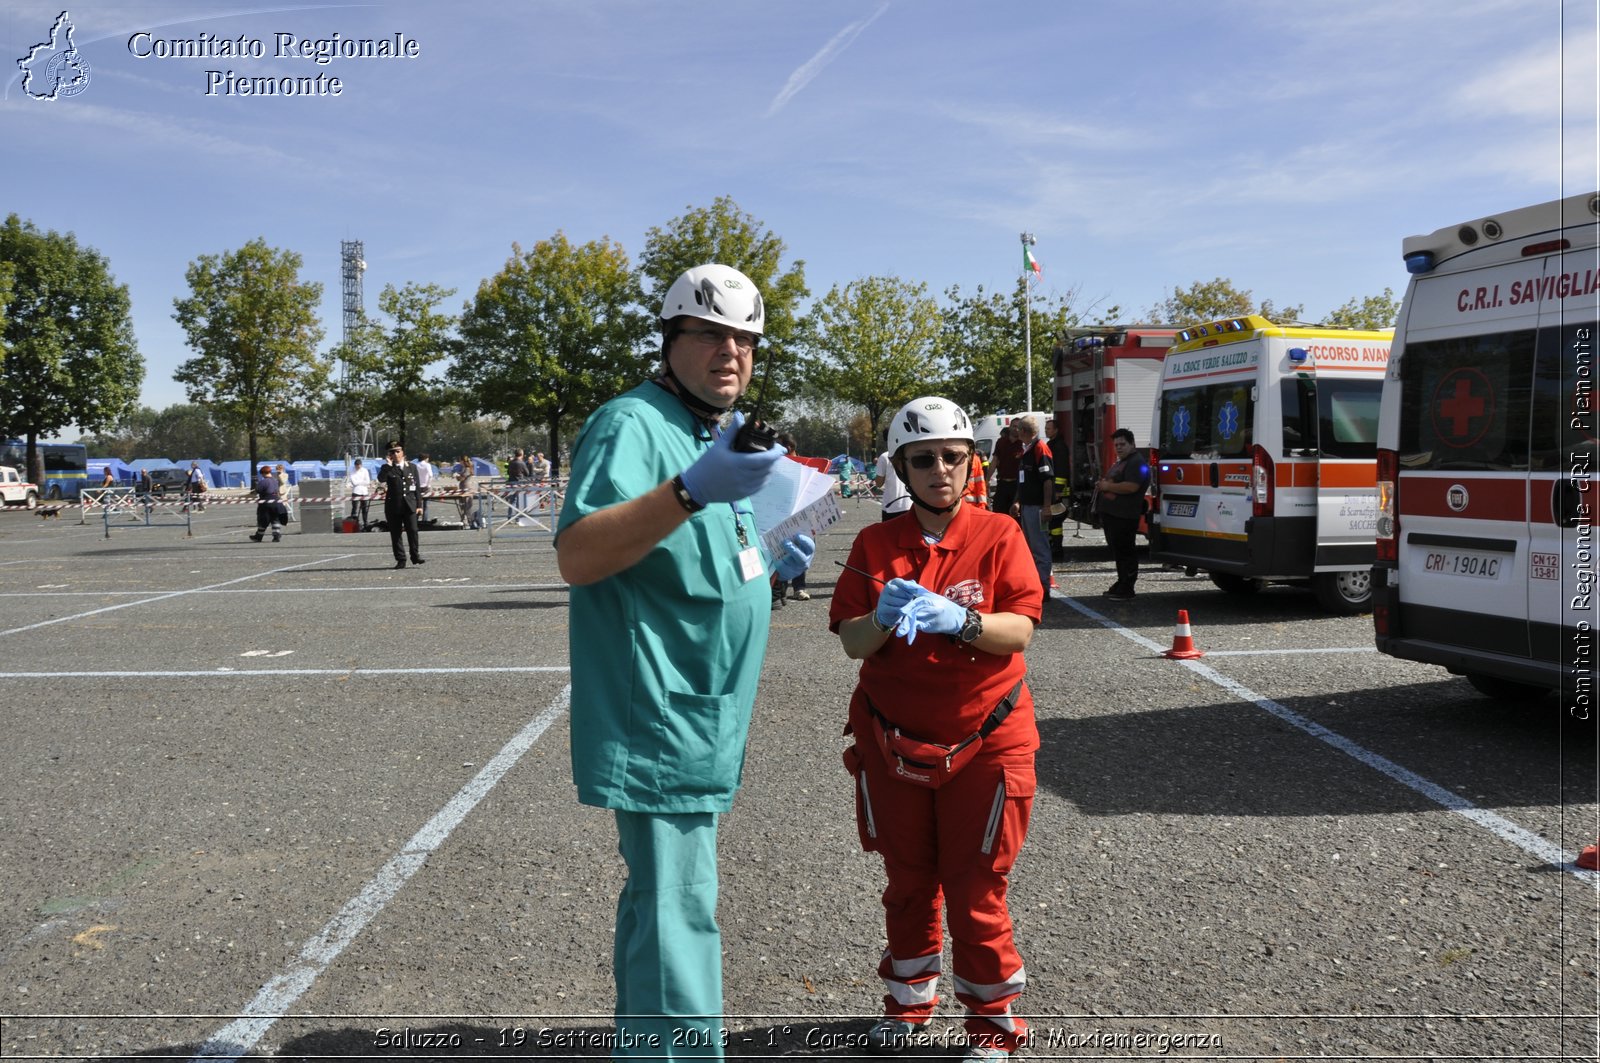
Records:
M662 373L600 407L557 523L573 584L573 776L613 808L613 1057L722 1058L717 816L733 805L771 615L749 496L784 450L741 451L722 416L750 384L762 295L696 266L661 307ZM779 575L810 565L790 546ZM787 573L787 575L786 575Z

